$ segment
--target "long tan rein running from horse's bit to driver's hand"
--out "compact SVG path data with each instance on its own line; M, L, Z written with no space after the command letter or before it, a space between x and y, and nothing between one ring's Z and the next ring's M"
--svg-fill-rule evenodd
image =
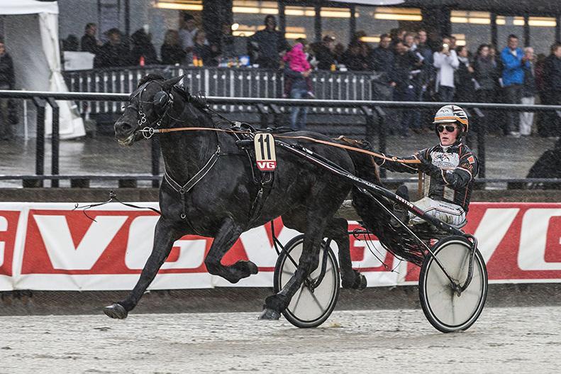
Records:
M151 138L155 133L172 133L175 131L218 131L223 133L243 133L243 134L250 134L250 131L239 131L239 130L230 130L225 128L208 128L208 127L178 127L178 128L152 128L152 127L145 127L142 130L139 130L140 133L147 139ZM148 135L146 135L148 133ZM387 155L381 153L375 153L371 150L365 150L362 148L351 147L350 145L344 145L339 143L334 143L331 141L322 141L321 139L310 138L309 136L288 136L288 135L274 135L273 138L282 138L282 139L301 139L305 141L311 141L313 143L330 145L336 148L342 148L346 150L352 150L358 153L364 153L365 155L371 155L376 158L382 158L388 161L394 161L396 163L404 163L404 164L419 164L421 161L419 160L400 160L399 158L394 157L387 157Z

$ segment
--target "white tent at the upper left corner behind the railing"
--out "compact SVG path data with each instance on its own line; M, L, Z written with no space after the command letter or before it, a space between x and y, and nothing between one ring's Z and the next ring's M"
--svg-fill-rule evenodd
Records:
M0 0L6 50L13 59L16 89L68 91L61 74L56 1ZM60 138L84 136L84 123L70 101L60 107ZM51 133L52 111L47 110L45 131Z

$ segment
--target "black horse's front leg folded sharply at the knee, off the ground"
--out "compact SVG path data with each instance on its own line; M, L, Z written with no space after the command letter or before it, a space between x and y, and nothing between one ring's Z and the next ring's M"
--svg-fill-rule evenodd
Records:
M226 219L216 233L211 249L204 260L206 270L209 270L209 273L220 275L230 283L236 283L242 278L257 274L257 265L251 261L239 260L230 266L221 264L222 258L232 248L241 233L243 233L243 228L240 225L235 224L233 219Z

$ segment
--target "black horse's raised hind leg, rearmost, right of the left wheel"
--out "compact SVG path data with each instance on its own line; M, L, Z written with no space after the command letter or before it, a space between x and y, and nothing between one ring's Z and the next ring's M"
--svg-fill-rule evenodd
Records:
M364 290L366 277L352 269L350 260L348 222L343 218L333 218L329 221L323 236L331 238L339 248L339 268L343 288Z

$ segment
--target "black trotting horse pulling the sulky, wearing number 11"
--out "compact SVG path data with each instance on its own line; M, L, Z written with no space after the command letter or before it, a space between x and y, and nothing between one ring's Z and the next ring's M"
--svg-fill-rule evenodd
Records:
M139 141L145 127L216 128L204 100L177 86L181 79L165 80L157 75L141 79L138 89L130 95L130 104L115 123L118 143L131 145ZM287 135L328 140L307 131ZM347 221L333 217L352 188L349 182L277 148L272 185L256 215L254 203L260 186L255 184L245 150L240 150L232 134L177 131L157 136L165 163L165 178L160 187L162 216L157 221L152 253L140 280L128 297L104 309L109 317L127 317L169 255L174 241L187 234L214 238L204 260L209 273L232 283L256 274L257 266L251 261L240 260L225 266L221 259L241 233L278 216L282 216L285 226L305 234L304 248L296 274L281 292L267 297L260 318L279 318L302 282L317 268L324 237L338 244L343 287L365 287L365 277L351 267ZM306 143L306 147L345 170L354 171L346 150L315 143ZM199 181L194 185L193 177Z

